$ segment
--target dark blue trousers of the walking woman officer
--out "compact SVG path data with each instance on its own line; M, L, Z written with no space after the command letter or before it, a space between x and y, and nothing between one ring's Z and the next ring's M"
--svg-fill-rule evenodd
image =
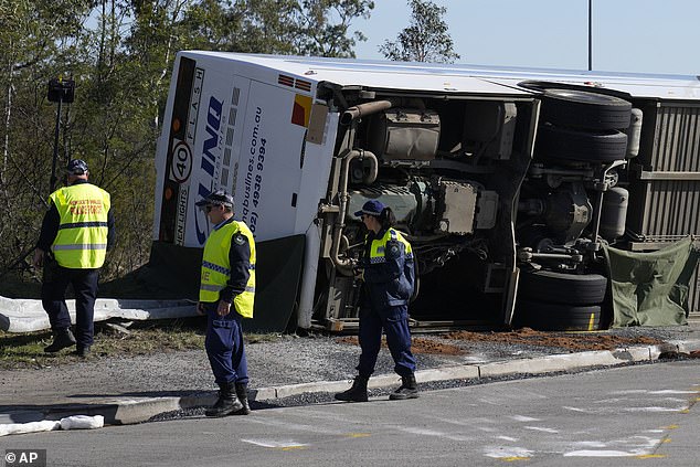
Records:
M415 358L411 353L411 331L409 330L409 307L385 307L360 309L360 363L358 373L369 378L374 372L376 357L382 346L382 330L386 333L386 344L394 359L394 371L401 376L415 372Z

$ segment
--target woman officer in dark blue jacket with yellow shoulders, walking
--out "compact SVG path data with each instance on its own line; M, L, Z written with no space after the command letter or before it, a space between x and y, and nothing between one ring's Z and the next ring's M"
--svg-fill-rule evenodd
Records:
M360 276L364 283L360 301L359 340L362 352L358 376L348 391L336 394L339 401L365 402L367 383L374 372L382 342L382 329L394 359L401 386L390 400L415 399L415 358L411 353L409 300L413 295L415 270L411 244L392 226L394 214L379 200L370 200L354 213L368 230Z

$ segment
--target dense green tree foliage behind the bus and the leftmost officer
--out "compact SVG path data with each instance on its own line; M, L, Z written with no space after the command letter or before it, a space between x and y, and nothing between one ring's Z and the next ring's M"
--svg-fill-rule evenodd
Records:
M0 284L39 279L29 254L47 208L56 149L112 193L118 243L103 278L149 257L156 140L177 51L353 56L369 0L0 0ZM53 77L75 102L46 98ZM59 124L57 145L54 145ZM3 294L0 286L0 295ZM17 294L14 294L17 295Z

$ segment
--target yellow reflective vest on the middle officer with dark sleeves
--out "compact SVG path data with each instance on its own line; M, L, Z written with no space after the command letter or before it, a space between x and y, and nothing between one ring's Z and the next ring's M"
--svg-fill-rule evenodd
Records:
M244 318L253 318L255 301L255 241L253 233L243 222L230 222L212 231L204 243L202 256L202 277L200 285L200 301L213 303L219 300L219 293L226 287L231 277L231 242L234 235L241 234L247 238L251 248L250 277L245 290L235 295L233 306Z

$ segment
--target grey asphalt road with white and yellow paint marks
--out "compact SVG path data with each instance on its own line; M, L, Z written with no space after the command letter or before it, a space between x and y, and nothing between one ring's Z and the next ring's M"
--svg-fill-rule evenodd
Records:
M700 361L0 438L49 466L698 466ZM6 464L10 465L10 464ZM17 465L17 464L15 464Z

